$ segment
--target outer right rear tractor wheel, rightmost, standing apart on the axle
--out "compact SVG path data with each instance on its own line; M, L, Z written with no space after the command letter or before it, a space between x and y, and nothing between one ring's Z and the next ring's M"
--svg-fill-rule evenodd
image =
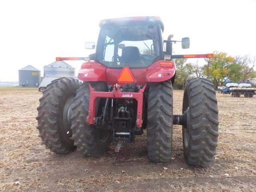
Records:
M183 150L186 162L193 166L212 164L218 144L218 106L210 80L193 78L186 82L182 113Z

